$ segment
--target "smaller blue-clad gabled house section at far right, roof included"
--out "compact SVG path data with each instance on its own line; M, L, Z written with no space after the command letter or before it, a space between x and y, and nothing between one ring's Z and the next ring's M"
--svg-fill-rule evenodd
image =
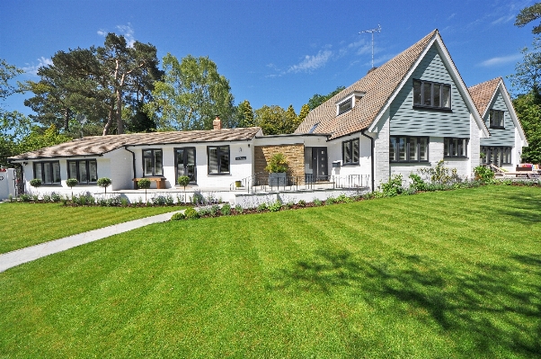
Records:
M485 126L491 131L488 139L481 139L482 163L514 170L528 141L503 79L497 77L471 86L469 91Z

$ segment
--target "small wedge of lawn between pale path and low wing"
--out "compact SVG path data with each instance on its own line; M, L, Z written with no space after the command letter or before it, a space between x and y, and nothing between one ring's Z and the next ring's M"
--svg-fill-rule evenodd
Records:
M70 207L59 203L2 203L0 254L152 216L180 207Z

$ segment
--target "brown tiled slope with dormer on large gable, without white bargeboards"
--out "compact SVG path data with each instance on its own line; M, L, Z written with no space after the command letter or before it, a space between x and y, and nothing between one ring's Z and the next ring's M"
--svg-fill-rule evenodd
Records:
M332 133L331 139L367 129L437 33L438 30L431 31L409 49L316 107L295 133L307 133L316 123L319 124L314 133ZM336 116L336 102L353 92L364 92L365 95L350 111Z

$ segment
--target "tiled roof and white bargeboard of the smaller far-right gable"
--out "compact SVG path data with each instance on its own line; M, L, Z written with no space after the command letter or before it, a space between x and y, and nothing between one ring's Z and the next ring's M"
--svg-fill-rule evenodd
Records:
M486 115L486 112L490 110L490 105L494 100L494 97L496 97L496 94L498 94L498 90L500 90L501 97L503 97L503 101L510 112L511 120L514 122L515 127L519 130L519 135L524 141L524 146L528 146L526 134L524 133L524 130L522 130L519 117L517 116L517 112L515 112L515 108L513 107L513 103L511 101L511 96L507 91L507 87L503 83L503 78L492 78L492 80L473 85L469 87L468 90L472 95L472 99L474 100L477 110L479 110L479 113L481 113L481 116L483 117Z

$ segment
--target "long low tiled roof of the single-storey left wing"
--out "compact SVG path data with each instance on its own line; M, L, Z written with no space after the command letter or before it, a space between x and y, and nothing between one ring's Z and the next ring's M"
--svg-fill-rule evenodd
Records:
M37 151L26 152L9 159L98 156L122 146L158 146L195 142L239 141L253 139L259 127L222 130L191 130L172 132L132 133L126 135L88 136Z

